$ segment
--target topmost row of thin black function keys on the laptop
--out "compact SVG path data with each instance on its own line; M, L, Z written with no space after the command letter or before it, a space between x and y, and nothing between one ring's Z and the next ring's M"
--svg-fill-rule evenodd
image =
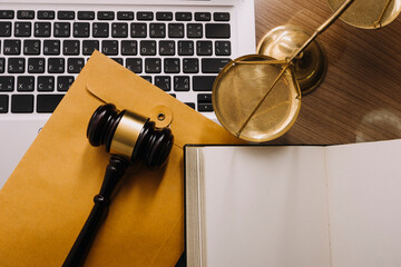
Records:
M95 20L96 17L98 20L115 20L115 11L98 11L96 14L94 11L78 11L78 20ZM0 19L13 19L13 10L0 10ZM35 19L33 10L18 10L17 18L23 20ZM53 20L56 18L56 12L52 10L39 10L37 11L37 18L40 20ZM76 18L76 12L71 10L60 10L57 12L57 19L59 20L74 20ZM135 12L133 11L117 11L117 20L134 20ZM151 11L138 11L136 12L137 20L148 20L151 21L155 19L155 14ZM192 12L156 12L156 20L158 21L172 21L175 18L176 21L211 21L211 12L195 12L194 18ZM215 21L229 21L228 12L214 12L213 20Z

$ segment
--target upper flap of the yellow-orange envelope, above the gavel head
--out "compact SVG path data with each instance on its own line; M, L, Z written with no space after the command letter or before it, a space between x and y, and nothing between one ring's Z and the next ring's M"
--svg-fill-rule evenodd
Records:
M105 61L118 67L108 68L108 71L105 71L106 68L101 66ZM89 59L86 70L90 70L91 76L96 75L89 78L90 83L87 83L87 89L102 101L113 102L118 109L130 109L151 119L157 119L159 111L169 111L167 117L172 120L170 128L175 136L175 145L179 147L199 142L199 140L204 144L237 144L239 141L219 125L168 93L160 93L159 88L133 75L131 71L98 51L95 51ZM144 98L144 96L147 97ZM198 127L190 127L192 123ZM203 129L200 132L199 128Z

